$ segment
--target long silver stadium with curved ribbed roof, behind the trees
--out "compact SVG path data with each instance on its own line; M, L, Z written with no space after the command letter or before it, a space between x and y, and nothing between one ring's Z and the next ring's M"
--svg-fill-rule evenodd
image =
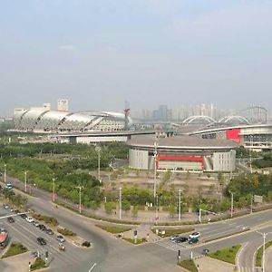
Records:
M127 118L127 119L126 119ZM15 109L17 131L70 132L121 131L132 124L131 118L120 112L65 112L48 108Z

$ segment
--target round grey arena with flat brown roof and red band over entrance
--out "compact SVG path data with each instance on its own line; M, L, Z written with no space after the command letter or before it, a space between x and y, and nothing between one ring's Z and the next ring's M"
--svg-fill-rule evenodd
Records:
M135 137L128 141L129 165L133 169L184 171L235 170L237 143L194 136Z

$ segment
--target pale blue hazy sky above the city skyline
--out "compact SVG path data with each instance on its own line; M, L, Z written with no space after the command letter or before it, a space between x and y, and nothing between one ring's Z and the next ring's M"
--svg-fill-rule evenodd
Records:
M58 98L269 108L271 64L271 0L0 1L0 115Z

